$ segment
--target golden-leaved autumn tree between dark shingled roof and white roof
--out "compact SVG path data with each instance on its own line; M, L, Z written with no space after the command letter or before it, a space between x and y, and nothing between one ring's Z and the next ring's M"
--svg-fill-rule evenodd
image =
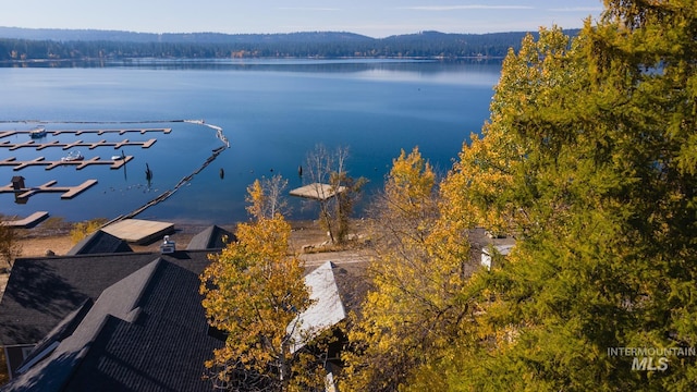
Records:
M228 390L323 389L321 352L293 350L294 320L311 301L304 265L289 253L291 225L278 212L268 215L272 195L265 189L259 181L249 186L253 220L237 226L237 241L211 255L201 274L209 323L227 335L206 366L213 383Z

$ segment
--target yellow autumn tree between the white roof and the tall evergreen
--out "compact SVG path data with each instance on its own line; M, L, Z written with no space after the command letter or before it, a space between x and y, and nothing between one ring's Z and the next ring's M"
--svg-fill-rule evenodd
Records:
M417 148L393 161L372 222L376 257L343 359L341 389L391 391L461 331L466 238L445 230L437 179Z

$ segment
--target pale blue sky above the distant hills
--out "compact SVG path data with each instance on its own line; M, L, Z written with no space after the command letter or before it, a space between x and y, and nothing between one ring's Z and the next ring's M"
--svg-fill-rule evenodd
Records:
M421 30L494 33L580 27L601 0L19 0L0 26L140 33L351 32L387 37Z

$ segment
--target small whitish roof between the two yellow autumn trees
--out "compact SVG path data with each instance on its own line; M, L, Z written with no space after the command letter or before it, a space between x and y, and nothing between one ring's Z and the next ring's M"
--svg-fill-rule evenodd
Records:
M310 290L309 298L315 303L286 328L291 335L291 353L346 318L333 269L333 262L327 261L305 277L305 284Z

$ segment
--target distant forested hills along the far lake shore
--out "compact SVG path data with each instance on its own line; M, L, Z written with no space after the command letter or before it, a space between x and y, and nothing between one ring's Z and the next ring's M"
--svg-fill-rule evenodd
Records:
M575 30L570 34L575 34ZM0 27L0 61L123 58L503 58L526 33L143 34Z

